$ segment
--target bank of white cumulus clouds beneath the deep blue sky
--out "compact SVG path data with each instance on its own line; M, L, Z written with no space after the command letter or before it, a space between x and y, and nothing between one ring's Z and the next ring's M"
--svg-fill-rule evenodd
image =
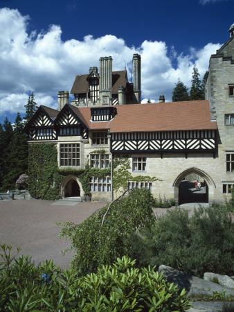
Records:
M195 63L202 78L210 54L220 46L209 43L203 49L191 48L187 55L178 55L165 42L144 41L141 46L130 47L114 35L87 35L83 40L63 42L62 29L57 25L29 33L29 19L18 10L0 9L0 115L24 112L32 91L38 105L57 108L57 92L70 91L76 75L88 73L89 67L99 67L99 58L109 55L113 58L113 70L123 70L125 64L131 64L132 55L140 53L142 97L159 101L164 94L166 101L171 101L177 79L189 87ZM130 78L131 66L127 68Z

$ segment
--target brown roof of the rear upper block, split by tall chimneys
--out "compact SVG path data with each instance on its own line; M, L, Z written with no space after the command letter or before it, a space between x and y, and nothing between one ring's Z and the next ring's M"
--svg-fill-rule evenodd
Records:
M88 74L76 76L70 93L78 94L89 92L89 83L87 81L88 77ZM120 87L120 85L126 87L127 83L127 71L112 71L111 93L118 93L118 87Z

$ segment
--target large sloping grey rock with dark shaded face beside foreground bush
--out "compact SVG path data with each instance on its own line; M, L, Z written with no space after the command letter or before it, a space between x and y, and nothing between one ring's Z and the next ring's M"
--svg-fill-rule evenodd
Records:
M179 289L185 288L188 293L188 297L197 295L213 295L215 291L222 293L223 290L226 295L234 295L234 291L230 288L213 283L213 281L199 279L199 277L175 270L170 266L160 266L158 271L159 274L163 273L163 277L167 279L168 282L174 282L174 284L177 284Z

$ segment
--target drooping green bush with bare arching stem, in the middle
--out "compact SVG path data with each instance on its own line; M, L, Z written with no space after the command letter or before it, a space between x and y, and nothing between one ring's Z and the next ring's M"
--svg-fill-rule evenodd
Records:
M109 209L105 206L80 225L60 223L60 237L71 240L75 249L73 268L82 274L95 272L100 265L131 254L133 234L154 224L152 207L154 198L148 189L132 189Z

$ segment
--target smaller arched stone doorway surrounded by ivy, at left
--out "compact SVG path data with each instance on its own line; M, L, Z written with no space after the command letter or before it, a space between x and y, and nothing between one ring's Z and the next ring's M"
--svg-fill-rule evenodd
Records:
M67 175L60 186L60 196L66 197L80 197L84 196L82 185L75 175Z

